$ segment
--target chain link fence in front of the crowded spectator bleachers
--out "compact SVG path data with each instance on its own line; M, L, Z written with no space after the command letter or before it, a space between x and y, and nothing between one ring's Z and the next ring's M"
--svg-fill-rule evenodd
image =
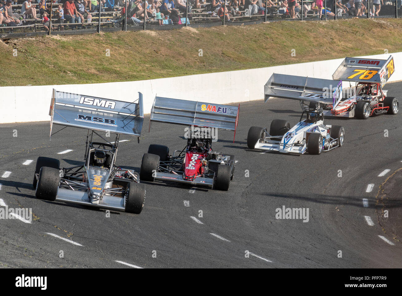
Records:
M401 0L0 0L0 38L369 17Z

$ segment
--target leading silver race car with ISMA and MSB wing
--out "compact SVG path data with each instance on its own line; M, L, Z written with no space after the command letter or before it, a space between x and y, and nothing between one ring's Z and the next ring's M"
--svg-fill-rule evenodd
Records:
M33 177L36 197L141 213L145 185L139 183L138 173L116 166L115 161L120 135L139 139L144 122L142 106L141 93L136 101L127 103L53 89L50 136L53 124L87 129L84 164L60 169L58 159L38 157ZM113 143L100 132L115 134ZM93 141L94 136L103 142Z

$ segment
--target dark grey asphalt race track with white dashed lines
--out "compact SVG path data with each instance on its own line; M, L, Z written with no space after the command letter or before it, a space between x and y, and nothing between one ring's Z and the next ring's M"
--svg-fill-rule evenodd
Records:
M401 87L402 82L389 83L385 89L398 97ZM228 131L219 131L213 143L214 150L238 160L228 192L145 182L142 213L112 211L110 217L100 209L38 200L32 188L39 156L58 158L62 167L83 163L86 130L66 128L49 142L49 122L2 124L0 205L32 208L33 220L0 220L0 267L401 268L395 225L402 215L401 187L392 183L402 180L396 172L402 167L400 113L326 118L325 124L344 126L343 147L293 156L252 151L246 137L250 126L269 128L273 119L294 125L299 103L241 103L235 143ZM150 133L148 127L146 116L139 144L120 138L130 141L119 144L117 165L138 172L148 145L168 145L171 152L185 146L184 126L153 123ZM308 222L276 219L275 209L283 206L308 208ZM389 218L382 217L384 209Z

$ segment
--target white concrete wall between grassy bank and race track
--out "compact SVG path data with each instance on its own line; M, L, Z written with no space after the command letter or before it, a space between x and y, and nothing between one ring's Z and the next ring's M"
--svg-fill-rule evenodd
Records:
M402 52L392 53L395 72L391 81L402 80ZM367 56L387 59L389 54ZM264 98L264 85L272 73L332 79L343 59L290 64L230 72L114 83L0 87L0 123L50 120L52 89L121 101L144 95L144 113L151 110L155 95L176 99L228 104Z

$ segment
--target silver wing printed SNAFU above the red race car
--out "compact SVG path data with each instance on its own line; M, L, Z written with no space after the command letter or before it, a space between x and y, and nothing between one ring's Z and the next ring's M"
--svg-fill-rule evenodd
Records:
M157 121L233 130L236 136L239 109L240 104L239 106L229 106L155 97L151 109L150 129L151 122Z

